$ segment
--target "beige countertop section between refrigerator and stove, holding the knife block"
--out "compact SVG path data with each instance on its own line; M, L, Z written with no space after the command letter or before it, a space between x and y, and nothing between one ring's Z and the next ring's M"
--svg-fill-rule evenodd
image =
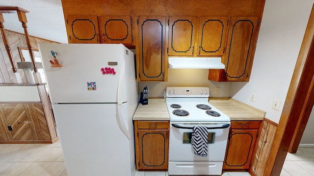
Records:
M148 105L139 104L133 120L170 120L164 98L150 98Z

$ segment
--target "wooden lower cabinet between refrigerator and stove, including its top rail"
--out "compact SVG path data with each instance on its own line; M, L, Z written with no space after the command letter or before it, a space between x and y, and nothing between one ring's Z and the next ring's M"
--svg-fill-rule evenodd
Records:
M167 170L169 121L134 121L137 170Z

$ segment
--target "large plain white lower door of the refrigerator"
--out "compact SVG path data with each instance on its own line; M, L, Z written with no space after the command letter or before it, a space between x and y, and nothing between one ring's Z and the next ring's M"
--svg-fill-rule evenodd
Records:
M134 175L134 141L119 128L116 104L58 104L52 108L69 176ZM128 119L121 120L128 123Z

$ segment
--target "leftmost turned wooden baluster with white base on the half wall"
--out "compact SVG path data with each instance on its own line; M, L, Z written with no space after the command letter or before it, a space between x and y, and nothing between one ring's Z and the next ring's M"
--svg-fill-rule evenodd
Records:
M14 64L14 60L13 60L10 44L9 44L8 39L6 38L6 35L5 35L5 32L4 32L3 22L4 22L3 15L2 15L2 13L0 13L0 30L1 30L1 34L2 34L4 47L5 47L6 52L8 53L8 56L9 56L9 59L10 59L10 62L11 62L11 66L12 66L12 70L13 70L15 76L16 76L16 79L14 79L14 83L22 83L22 79L21 79L20 73L16 70L16 67L15 67L15 64Z

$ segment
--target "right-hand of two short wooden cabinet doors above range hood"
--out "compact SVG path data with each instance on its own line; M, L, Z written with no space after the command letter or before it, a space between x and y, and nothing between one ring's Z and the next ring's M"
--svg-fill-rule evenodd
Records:
M198 56L222 56L228 17L200 17Z

